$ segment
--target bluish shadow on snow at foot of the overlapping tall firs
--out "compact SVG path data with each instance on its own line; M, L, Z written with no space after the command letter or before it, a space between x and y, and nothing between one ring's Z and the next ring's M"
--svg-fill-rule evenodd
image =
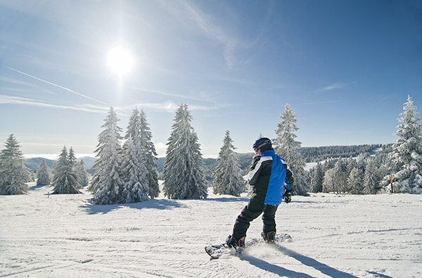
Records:
M141 203L117 203L114 205L94 205L93 203L85 203L81 208L83 208L89 214L97 213L110 213L113 210L118 210L120 208L137 208L139 210L144 208L155 208L157 210L171 210L173 208L183 208L184 204L180 203L178 200L168 200L168 199L151 199Z

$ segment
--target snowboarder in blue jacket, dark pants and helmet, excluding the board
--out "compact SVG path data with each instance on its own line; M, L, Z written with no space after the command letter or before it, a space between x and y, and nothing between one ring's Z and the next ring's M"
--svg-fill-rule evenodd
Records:
M276 237L276 210L283 198L286 203L291 201L293 173L286 161L276 155L271 140L265 137L257 139L252 148L256 154L248 173L248 182L253 187L252 197L238 215L233 234L226 239L226 244L236 249L245 246L250 222L262 213L262 238L273 242Z

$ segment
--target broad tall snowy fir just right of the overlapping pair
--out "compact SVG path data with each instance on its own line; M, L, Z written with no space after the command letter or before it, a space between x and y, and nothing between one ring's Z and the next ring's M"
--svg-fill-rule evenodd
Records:
M207 197L205 166L191 120L188 105L181 103L174 115L163 168L163 190L167 198Z

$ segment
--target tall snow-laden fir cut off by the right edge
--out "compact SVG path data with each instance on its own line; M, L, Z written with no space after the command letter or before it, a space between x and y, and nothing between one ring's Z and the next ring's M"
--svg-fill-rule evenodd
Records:
M422 125L411 96L404 103L391 154L395 192L422 194ZM390 186L385 187L390 191Z

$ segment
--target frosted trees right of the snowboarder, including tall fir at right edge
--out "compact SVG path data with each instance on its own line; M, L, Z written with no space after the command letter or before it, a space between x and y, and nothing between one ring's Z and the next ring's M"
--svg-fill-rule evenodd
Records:
M350 194L422 194L422 125L411 96L403 104L397 140L375 155L328 159L308 172L309 190Z

